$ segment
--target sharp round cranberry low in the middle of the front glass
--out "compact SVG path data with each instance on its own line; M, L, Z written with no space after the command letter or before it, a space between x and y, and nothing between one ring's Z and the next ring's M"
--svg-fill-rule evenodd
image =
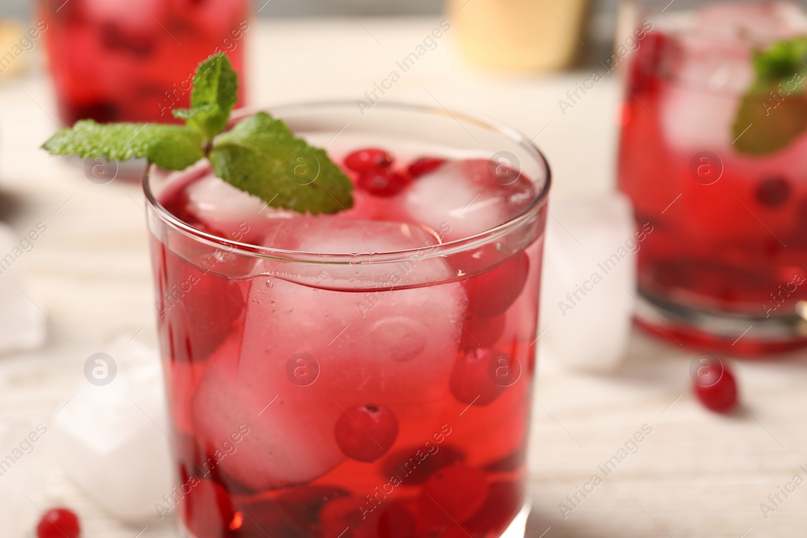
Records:
M345 456L358 461L376 461L395 443L398 419L383 406L349 407L337 419L334 436Z

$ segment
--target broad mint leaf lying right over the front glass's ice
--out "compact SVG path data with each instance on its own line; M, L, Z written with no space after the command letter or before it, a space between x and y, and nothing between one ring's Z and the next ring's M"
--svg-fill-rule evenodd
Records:
M353 206L353 184L324 150L266 112L216 136L208 157L216 175L270 206L312 215Z

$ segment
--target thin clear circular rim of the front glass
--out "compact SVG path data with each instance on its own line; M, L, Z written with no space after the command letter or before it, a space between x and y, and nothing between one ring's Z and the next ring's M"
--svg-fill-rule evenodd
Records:
M255 106L243 107L233 111L234 115L251 115L256 111L268 111L273 115L278 114L282 119L282 111L289 111L295 109L316 109L317 107L328 106L355 106L353 101L346 100L331 100L331 101L308 101L308 102L294 102L278 106ZM533 194L533 201L521 210L517 215L513 215L510 219L505 220L503 223L497 224L495 227L488 228L487 230L476 233L472 236L463 237L458 240L451 240L445 243L438 242L434 245L419 248L408 248L405 250L396 250L389 252L362 252L362 253L328 253L328 252L302 252L295 250L284 250L281 248L271 248L256 244L242 243L236 240L229 240L224 237L215 236L207 231L199 230L181 219L171 214L164 206L157 200L151 186L150 178L152 170L157 168L156 165L147 165L143 173L143 190L146 197L146 202L149 206L157 211L160 219L169 223L171 226L182 231L186 236L190 236L195 240L201 240L204 243L215 245L216 247L226 250L226 252L239 253L244 256L272 258L282 261L297 261L297 262L312 262L320 264L361 264L361 263L395 263L399 261L411 260L413 258L431 258L434 256L445 256L446 254L453 254L462 252L471 248L477 248L482 244L487 244L489 241L497 237L506 235L519 227L521 223L525 223L537 214L542 208L546 207L546 198L548 198L550 186L552 183L552 173L549 162L546 160L543 152L537 148L521 131L517 131L512 127L508 127L505 123L498 120L487 118L484 115L468 114L463 112L449 111L445 108L437 108L435 106L414 105L405 102L378 102L374 108L382 108L387 110L411 111L422 114L441 115L447 118L453 118L457 121L460 119L466 122L475 123L481 127L490 129L491 131L498 131L501 135L508 137L510 140L520 145L525 149L537 164L543 169L546 177L541 190L537 194ZM439 241L437 238L435 238Z

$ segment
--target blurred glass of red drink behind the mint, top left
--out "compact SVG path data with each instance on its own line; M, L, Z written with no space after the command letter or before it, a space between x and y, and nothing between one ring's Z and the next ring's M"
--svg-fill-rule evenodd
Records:
M174 122L200 61L228 52L242 73L245 0L39 0L38 11L66 125Z

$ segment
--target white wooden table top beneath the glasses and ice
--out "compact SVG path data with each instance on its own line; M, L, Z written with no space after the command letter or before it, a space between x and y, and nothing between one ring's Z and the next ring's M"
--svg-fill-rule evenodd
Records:
M249 98L258 105L362 98L437 23L253 23ZM583 71L547 77L475 73L456 58L449 31L384 99L474 111L529 136L540 133L537 144L554 169L553 196L568 196L613 185L616 75L566 115L558 107L558 99L589 76ZM140 187L117 180L95 185L81 169L48 158L38 146L56 128L55 117L44 74L0 85L0 192L19 202L10 222L20 235L39 221L48 225L34 251L12 270L51 320L45 348L0 358L0 417L35 422L46 421L65 402L91 353L122 335L137 335L144 344L156 341ZM807 486L767 519L759 505L794 474L807 478L798 467L807 466L807 357L739 363L747 409L723 417L693 399L692 355L636 333L625 365L610 376L571 373L539 357L529 536L805 534ZM638 452L605 477L598 465L645 424L652 433L638 444ZM134 538L142 530L105 515L61 475L48 453L36 457L51 469L52 499L82 516L85 538ZM558 504L575 506L567 494L575 494L595 473L603 483L587 498L578 494L582 502L564 519ZM173 531L150 525L141 536L173 536Z

